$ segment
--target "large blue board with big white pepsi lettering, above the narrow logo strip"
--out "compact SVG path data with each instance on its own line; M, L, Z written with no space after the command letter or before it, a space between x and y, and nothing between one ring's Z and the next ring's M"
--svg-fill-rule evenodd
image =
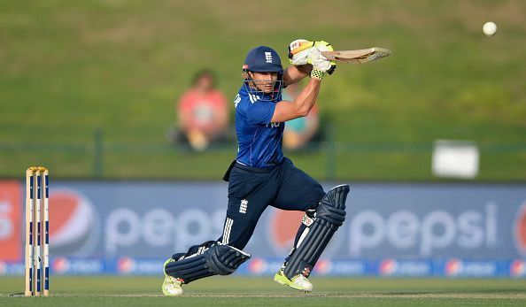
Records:
M50 191L69 212L50 234L54 256L169 257L217 239L228 189L222 183L59 181ZM330 185L324 185L328 189ZM347 218L323 257L513 259L526 256L526 187L351 184ZM55 210L55 211L54 211ZM254 257L287 256L301 214L269 207L244 248ZM422 264L400 263L420 272Z

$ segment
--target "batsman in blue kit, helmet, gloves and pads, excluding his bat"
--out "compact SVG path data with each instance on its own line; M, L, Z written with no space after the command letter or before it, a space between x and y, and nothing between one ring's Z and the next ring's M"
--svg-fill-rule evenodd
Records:
M285 122L306 116L320 93L321 80L336 68L321 55L332 51L328 42L296 40L289 45L290 65L283 70L272 48L259 46L244 60L243 85L236 108L237 157L223 180L228 181L228 208L223 234L218 240L190 247L164 264L165 295L182 295L182 285L212 275L228 275L251 255L243 249L259 217L273 206L281 210L305 211L298 221L298 234L289 256L274 280L310 292L308 280L323 249L345 219L348 185L325 193L320 183L283 157ZM282 100L282 88L306 77L310 80L293 101Z

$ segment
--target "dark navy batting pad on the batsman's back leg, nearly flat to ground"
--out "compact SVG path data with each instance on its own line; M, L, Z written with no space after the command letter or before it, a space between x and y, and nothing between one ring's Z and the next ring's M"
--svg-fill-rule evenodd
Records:
M165 272L186 284L208 276L231 274L250 257L243 250L215 244L201 255L168 263Z

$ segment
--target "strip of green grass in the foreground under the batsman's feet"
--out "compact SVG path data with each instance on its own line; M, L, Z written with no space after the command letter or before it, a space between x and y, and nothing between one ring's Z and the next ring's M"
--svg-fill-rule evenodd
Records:
M313 278L311 294L271 278L213 277L163 297L160 278L55 277L51 297L11 297L21 278L0 279L0 304L9 306L521 306L526 280Z

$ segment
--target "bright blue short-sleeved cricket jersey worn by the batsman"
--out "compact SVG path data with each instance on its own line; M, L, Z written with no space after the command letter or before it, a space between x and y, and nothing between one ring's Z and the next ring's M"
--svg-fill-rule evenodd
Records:
M282 100L281 93L275 101ZM271 168L282 162L282 138L285 123L271 123L275 102L261 101L244 86L234 101L236 105L236 160L244 165Z

